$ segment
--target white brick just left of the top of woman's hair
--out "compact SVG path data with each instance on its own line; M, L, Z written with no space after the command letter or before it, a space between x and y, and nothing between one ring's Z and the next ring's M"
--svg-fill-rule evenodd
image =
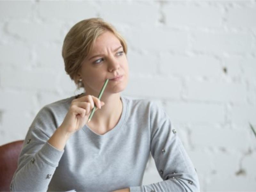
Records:
M32 21L10 21L7 30L10 34L18 36L33 44L45 42L63 42L60 37L61 23L38 23Z

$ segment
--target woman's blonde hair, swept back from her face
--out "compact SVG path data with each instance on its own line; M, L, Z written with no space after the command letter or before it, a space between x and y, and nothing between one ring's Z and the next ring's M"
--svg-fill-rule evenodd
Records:
M120 40L124 53L127 54L127 44L124 38L110 23L101 18L79 21L68 31L64 39L62 57L65 64L65 71L71 80L75 82L77 89L84 87L84 84L76 79L82 62L92 50L97 37L105 31L112 32Z

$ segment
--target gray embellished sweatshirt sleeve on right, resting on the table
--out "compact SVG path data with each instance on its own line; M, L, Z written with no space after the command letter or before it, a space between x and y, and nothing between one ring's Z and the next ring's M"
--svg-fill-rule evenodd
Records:
M150 111L150 152L163 181L130 187L130 191L200 191L196 169L169 117L156 103Z

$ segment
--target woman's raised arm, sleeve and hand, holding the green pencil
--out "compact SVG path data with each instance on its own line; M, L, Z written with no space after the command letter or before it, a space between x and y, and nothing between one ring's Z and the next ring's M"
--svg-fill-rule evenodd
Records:
M66 110L68 106L60 103L58 106L56 103L45 106L38 112L23 144L18 168L12 178L11 191L46 191L48 189L64 153L66 142L87 122L94 103L97 108L104 105L104 102L98 98L86 95L72 100L71 104L68 104L68 113ZM62 124L59 126L60 122Z

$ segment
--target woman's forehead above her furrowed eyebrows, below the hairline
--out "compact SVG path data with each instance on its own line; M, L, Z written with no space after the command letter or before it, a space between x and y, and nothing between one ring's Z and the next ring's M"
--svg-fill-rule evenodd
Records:
M92 52L103 52L106 48L114 50L120 45L120 40L112 32L106 31L98 36L92 47Z

